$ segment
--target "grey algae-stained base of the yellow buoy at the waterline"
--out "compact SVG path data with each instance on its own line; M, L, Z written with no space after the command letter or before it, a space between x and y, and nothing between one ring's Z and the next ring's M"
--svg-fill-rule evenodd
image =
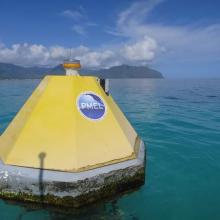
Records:
M0 161L0 197L80 207L143 185L145 155L141 141L137 159L80 173L10 166Z

